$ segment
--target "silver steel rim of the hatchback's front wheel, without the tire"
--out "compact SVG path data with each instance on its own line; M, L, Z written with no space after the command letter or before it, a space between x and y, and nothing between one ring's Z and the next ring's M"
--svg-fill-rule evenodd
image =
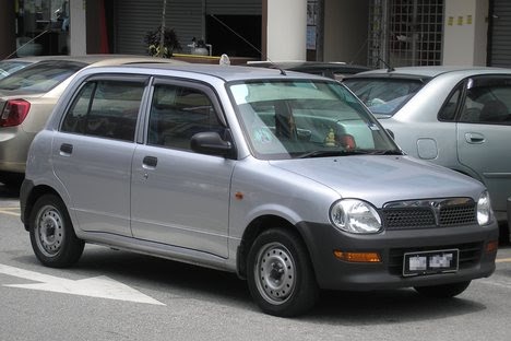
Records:
M266 244L254 269L258 290L271 304L283 304L295 290L296 268L289 250L280 243Z

